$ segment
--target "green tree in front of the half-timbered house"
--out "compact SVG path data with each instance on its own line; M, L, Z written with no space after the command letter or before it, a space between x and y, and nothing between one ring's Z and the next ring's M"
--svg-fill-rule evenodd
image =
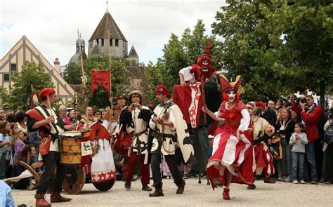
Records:
M24 62L22 72L12 72L11 107L12 109L30 109L31 86L39 93L43 88L54 88L51 76L45 73L43 62Z

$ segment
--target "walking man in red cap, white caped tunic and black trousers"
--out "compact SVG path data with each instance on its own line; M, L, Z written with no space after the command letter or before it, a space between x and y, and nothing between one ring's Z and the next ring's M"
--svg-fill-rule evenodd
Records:
M150 197L164 196L162 190L161 161L162 155L171 171L174 183L178 186L176 194L183 194L185 180L177 166L176 149L181 147L184 161L188 161L194 155L194 149L190 143L190 134L183 120L183 114L177 105L170 100L171 95L166 86L160 85L155 91L156 98L160 103L154 109L149 125L155 131L152 139L151 166L152 180L155 192L150 193Z

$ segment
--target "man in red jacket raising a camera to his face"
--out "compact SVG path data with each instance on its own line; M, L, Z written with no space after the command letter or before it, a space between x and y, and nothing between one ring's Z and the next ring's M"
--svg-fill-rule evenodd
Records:
M318 182L317 169L315 164L315 140L318 140L319 133L317 124L322 114L321 107L315 104L312 95L301 96L292 102L292 110L301 114L303 123L306 127L306 135L308 137L308 145L306 145L306 161L304 161L304 178L307 179L308 172L311 173L311 183Z

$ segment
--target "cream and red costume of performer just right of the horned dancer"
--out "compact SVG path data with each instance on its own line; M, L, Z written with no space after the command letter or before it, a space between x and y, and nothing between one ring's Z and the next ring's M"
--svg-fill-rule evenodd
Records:
M274 133L274 128L266 119L258 117L256 121L251 121L249 128L253 129L252 135L254 140L254 157L256 159L256 174L260 175L263 171L265 176L273 175L275 173L273 166L273 156L270 154L267 145L263 140L256 143L264 134L271 136ZM268 132L272 129L271 132Z

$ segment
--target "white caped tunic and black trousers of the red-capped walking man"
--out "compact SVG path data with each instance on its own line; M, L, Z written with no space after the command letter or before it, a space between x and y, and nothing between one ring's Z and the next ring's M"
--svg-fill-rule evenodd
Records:
M171 121L173 126L162 126L157 124L152 119L158 116L162 119L165 113L169 113L169 118L164 121ZM175 151L177 147L181 148L184 161L188 161L190 156L194 155L194 149L189 142L190 139L188 129L185 121L183 120L183 114L177 105L170 100L164 104L159 104L154 109L154 114L150 119L149 125L152 130L156 131L152 140L152 154L151 166L152 166L152 179L154 180L153 186L160 185L162 182L161 177L161 154L164 155L165 161L169 166L174 183L179 186L182 181L181 171L176 164Z

